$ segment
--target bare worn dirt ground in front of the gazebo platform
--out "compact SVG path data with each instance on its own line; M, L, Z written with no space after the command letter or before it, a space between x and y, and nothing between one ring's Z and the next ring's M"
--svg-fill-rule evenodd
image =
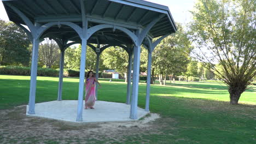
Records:
M27 117L26 106L0 110L0 143L129 143L145 135L161 135L166 123L150 113L139 121L75 124Z

